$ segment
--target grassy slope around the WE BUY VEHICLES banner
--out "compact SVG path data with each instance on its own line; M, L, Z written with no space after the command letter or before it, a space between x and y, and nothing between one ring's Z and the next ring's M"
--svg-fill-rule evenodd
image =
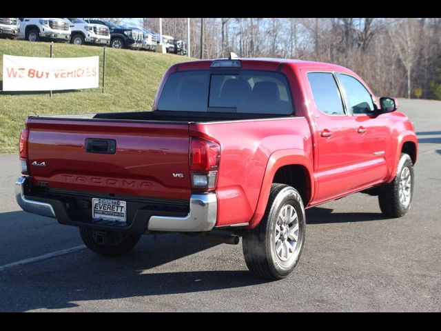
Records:
M54 57L90 57L102 54L97 46L54 43ZM49 92L0 92L0 153L18 152L19 135L28 115L79 114L150 110L161 77L173 63L188 57L136 50L106 50L105 94L101 93L103 57L100 56L100 88ZM3 54L49 57L50 43L0 39ZM0 72L0 90L3 77Z

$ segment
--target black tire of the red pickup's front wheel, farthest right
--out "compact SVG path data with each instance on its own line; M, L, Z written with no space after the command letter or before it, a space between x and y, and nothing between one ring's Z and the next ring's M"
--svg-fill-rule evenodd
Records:
M410 173L410 200L400 201L400 179L402 175L407 173L409 169ZM398 162L398 169L396 177L391 183L386 183L378 188L378 203L384 216L387 217L402 217L411 208L411 202L413 197L413 163L409 154L401 154L400 161ZM408 203L407 203L408 202Z

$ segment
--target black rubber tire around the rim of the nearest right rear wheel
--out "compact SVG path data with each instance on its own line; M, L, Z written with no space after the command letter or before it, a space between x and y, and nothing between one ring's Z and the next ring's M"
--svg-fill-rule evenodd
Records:
M298 239L291 257L283 261L276 252L275 236L276 226L280 226L279 213L283 208L287 208L287 205L294 207L297 214ZM248 269L257 277L264 279L276 280L287 277L296 267L302 252L305 242L305 219L305 208L297 190L285 184L272 184L263 219L256 228L243 235L243 255ZM285 241L280 242L284 244Z

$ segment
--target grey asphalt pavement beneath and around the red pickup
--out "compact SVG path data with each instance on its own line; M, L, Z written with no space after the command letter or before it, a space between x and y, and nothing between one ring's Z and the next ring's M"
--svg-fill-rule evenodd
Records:
M305 248L281 281L247 271L242 245L144 236L126 257L23 212L17 154L0 155L0 311L441 311L441 101L400 99L419 139L409 213L353 194L307 210Z

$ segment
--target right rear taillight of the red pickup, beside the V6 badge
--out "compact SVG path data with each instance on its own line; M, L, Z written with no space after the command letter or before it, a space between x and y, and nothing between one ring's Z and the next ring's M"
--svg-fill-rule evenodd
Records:
M189 163L192 188L214 190L220 162L220 145L214 141L192 137Z

